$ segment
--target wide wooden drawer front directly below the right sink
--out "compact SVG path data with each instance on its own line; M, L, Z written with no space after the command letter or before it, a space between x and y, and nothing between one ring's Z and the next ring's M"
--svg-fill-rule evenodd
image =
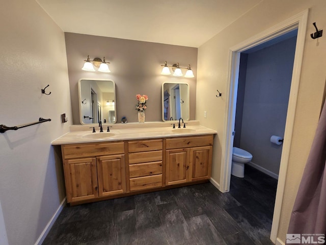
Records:
M166 149L213 145L213 135L166 139Z

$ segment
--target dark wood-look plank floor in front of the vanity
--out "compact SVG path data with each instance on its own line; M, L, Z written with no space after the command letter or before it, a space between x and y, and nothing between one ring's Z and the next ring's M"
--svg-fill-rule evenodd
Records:
M43 244L273 244L276 187L246 165L228 193L205 183L65 207Z

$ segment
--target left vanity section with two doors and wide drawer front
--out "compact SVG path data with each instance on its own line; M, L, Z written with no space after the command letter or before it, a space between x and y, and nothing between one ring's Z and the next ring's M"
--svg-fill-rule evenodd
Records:
M68 203L126 192L124 142L61 147Z

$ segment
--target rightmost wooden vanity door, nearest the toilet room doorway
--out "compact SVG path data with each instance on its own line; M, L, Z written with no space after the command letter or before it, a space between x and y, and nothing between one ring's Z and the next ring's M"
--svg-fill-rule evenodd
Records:
M191 180L209 179L212 165L212 146L191 148L190 171Z

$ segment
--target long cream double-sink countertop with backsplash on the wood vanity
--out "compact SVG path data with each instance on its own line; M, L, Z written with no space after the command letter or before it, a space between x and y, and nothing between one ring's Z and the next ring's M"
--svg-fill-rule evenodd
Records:
M175 124L173 129L171 124ZM107 126L110 128L110 133L106 132ZM52 145L73 144L73 143L88 143L88 142L103 142L131 139L152 139L164 137L180 137L192 135L217 134L215 130L199 125L199 121L186 121L186 128L178 129L178 122L145 122L128 123L128 124L113 124L103 125L103 132L99 132L99 127L96 125L96 133L92 133L94 125L75 125L70 127L70 132L64 134L51 142Z

